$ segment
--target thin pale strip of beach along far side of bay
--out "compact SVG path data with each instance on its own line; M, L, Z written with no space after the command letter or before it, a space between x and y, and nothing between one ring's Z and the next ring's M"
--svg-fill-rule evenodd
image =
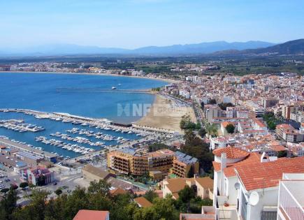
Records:
M120 75L120 74L110 74L110 73L64 73L64 72L36 72L36 71L0 71L1 73L38 73L38 74L71 74L71 75L105 75L105 76L118 76L118 77L126 77L126 78L140 78L147 80L160 80L169 83L176 83L178 80L164 79L164 78L149 78L145 76L136 76L136 75ZM152 88L151 88L152 89Z

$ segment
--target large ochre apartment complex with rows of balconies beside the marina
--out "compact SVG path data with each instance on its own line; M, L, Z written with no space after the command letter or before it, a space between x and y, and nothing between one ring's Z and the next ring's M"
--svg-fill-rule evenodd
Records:
M165 175L173 173L178 177L187 177L191 168L194 174L199 173L196 158L169 149L147 154L129 148L118 149L108 153L108 168L126 175L145 175L150 171L159 171Z

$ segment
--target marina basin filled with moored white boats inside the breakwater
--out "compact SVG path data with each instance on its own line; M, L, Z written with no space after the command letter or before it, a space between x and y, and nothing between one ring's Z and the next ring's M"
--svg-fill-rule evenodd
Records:
M0 110L0 118L3 121L21 117L24 121L45 129L36 134L34 132L20 133L0 127L1 135L6 135L10 140L21 141L31 150L50 152L59 159L73 159L91 155L94 152L98 154L103 149L132 147L161 134L132 126L111 124L107 119L92 119L66 113L35 110ZM168 134L163 133L163 135Z

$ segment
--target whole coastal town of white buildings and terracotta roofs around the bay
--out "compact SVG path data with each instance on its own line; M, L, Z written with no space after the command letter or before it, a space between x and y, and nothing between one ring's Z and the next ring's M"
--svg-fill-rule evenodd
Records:
M205 71L216 71L218 66L199 64L184 65L182 68L195 74L181 75L174 80L143 70L113 71L94 66L63 68L62 64L36 63L1 68L1 71L162 78L170 82L165 87L152 89L153 93L170 100L171 108L192 110L190 115L180 117L177 128L168 127L166 123L154 126L152 122L123 126L74 115L3 109L3 112L23 112L38 119L88 128L66 130L71 135L85 135L86 138L73 138L59 132L50 135L61 140L36 138L46 144L85 154L75 159L1 137L2 196L12 189L17 191L20 206L27 207L31 201L27 195L36 190L48 191L43 200L58 200L62 193L73 196L80 190L78 187L90 189L106 184L106 195L114 196L114 199L115 196L128 195L128 200L139 210L152 208L154 203L172 203L171 208L180 210L180 219L304 217L304 201L301 199L304 184L303 75L209 74ZM183 71L182 68L172 66L171 72ZM161 120L164 115L152 115L154 121L158 117ZM3 120L1 123L7 129L18 128L22 132L36 129L34 132L39 133L48 129L28 126L24 121ZM87 138L93 136L112 141L116 140L115 135L91 131L92 126L101 131L138 133L143 139L118 138L116 146L103 146L103 142L92 142ZM62 140L101 146L102 149L96 151ZM290 203L294 204L292 210L288 206ZM107 219L108 211L89 211L84 207L75 218L100 212ZM138 213L143 218L143 213ZM172 211L168 219L174 219L176 215Z

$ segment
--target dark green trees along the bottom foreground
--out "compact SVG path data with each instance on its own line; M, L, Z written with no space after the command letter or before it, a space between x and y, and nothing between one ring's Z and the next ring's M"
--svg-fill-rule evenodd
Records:
M103 180L91 182L87 189L77 187L69 194L59 193L57 198L49 195L47 191L33 190L29 205L18 207L17 193L10 189L0 202L0 220L68 220L84 209L108 210L113 220L175 220L179 219L180 212L200 213L202 205L212 205L212 200L195 196L188 186L180 191L178 200L171 196L159 198L154 191L147 191L144 197L150 200L152 207L138 207L133 203L134 194L112 196L110 184Z

